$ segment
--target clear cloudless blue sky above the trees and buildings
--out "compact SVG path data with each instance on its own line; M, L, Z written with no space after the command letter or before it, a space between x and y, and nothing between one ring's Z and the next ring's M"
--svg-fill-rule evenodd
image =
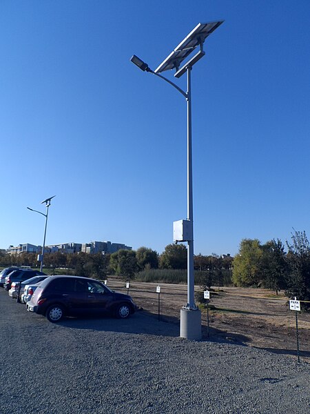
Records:
M308 0L0 2L0 248L161 253L187 217L186 101L155 69L225 19L192 70L194 249L310 235ZM186 90L186 77L165 75Z

